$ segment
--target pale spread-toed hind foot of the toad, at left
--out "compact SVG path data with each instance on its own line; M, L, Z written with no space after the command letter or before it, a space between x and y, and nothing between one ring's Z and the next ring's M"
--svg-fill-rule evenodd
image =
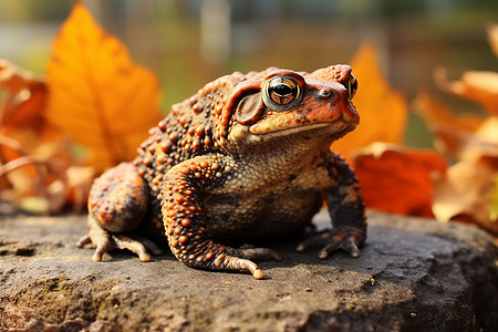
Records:
M92 217L89 216L90 231L82 237L76 246L83 248L92 243L96 249L92 256L93 261L102 261L105 252L113 249L127 249L138 256L141 261L151 261L151 253L160 255L163 250L153 241L137 235L125 235L111 232L98 226Z

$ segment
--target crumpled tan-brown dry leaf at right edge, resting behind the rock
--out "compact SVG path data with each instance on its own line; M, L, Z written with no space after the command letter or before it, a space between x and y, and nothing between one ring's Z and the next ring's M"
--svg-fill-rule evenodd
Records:
M435 183L435 217L475 222L498 234L492 204L498 198L498 118L489 117L474 133L444 126L434 133L437 145L458 160Z

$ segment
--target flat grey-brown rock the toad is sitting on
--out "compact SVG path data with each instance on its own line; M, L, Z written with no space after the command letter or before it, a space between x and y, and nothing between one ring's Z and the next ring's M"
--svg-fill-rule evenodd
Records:
M93 262L84 217L0 221L0 330L497 331L498 249L458 224L370 212L362 257L269 245L266 280L187 268L170 253ZM328 224L318 217L319 228Z

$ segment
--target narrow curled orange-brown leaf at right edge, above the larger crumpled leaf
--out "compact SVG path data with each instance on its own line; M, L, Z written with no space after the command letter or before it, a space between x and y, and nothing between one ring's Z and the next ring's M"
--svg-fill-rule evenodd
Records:
M475 101L485 110L498 115L498 73L495 72L465 72L459 81L448 81L443 69L434 71L436 84L459 97Z

